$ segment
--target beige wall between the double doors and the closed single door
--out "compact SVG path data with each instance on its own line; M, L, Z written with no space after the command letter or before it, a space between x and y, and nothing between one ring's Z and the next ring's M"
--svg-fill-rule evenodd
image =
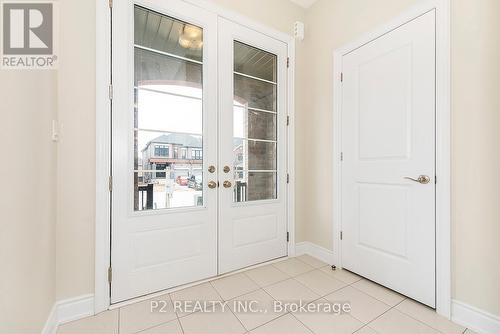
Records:
M320 0L306 12L297 80L297 221L300 239L332 249L333 51L380 25L416 0ZM300 158L299 158L300 159Z

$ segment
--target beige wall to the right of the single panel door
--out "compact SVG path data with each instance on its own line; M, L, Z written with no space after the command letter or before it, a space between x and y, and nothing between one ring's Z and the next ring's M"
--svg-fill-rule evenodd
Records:
M453 295L500 315L498 13L498 0L452 0Z

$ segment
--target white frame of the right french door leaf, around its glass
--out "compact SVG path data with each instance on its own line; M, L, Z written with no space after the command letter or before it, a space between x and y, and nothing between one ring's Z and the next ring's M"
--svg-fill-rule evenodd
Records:
M244 43L250 47L263 50L276 56L276 177L277 193L275 199L249 200L235 202L233 192L235 187L233 161L235 159L233 140L234 104L242 102L235 97L233 76L233 46L234 42ZM287 101L287 45L272 37L246 28L232 21L219 18L219 273L254 265L274 258L287 255L287 224L286 224L286 101ZM241 77L241 75L240 75ZM272 86L272 83L246 78L256 85ZM248 103L247 103L248 106ZM251 107L251 105L250 105ZM252 109L252 108L250 108ZM245 112L267 114L262 110ZM248 117L248 116L247 116ZM252 141L260 145L272 145L263 141ZM247 158L263 158L269 152L265 149L257 151L255 156ZM269 157L268 157L269 158ZM223 166L230 167L228 173L223 172ZM248 168L247 168L248 167ZM247 166L245 169L251 170ZM245 170L246 172L246 170ZM267 171L256 173L270 175ZM248 174L246 174L248 176ZM249 177L247 177L249 179ZM225 188L224 181L232 183ZM249 181L251 186L252 180Z

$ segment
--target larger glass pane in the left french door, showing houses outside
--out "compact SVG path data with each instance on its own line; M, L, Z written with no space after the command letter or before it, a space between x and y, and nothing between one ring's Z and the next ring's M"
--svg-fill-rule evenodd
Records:
M135 6L134 209L203 205L203 30Z

